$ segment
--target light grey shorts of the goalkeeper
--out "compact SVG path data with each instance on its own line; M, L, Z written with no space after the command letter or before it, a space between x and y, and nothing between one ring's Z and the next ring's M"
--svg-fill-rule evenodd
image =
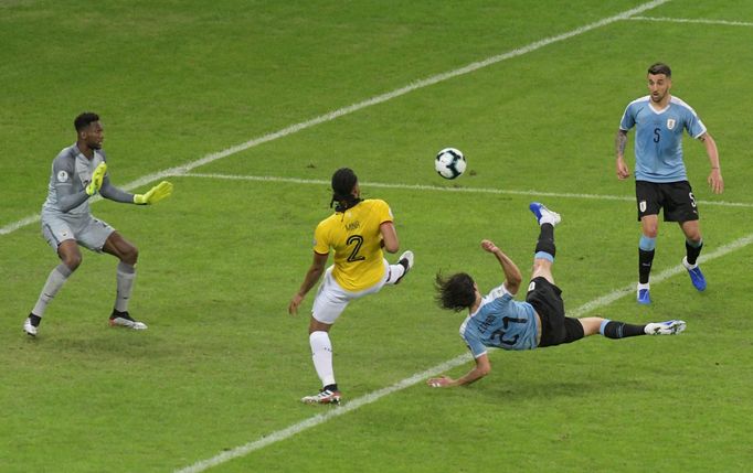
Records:
M75 239L78 245L102 252L105 241L113 232L115 228L92 215L64 218L42 212L42 236L55 251L61 243Z

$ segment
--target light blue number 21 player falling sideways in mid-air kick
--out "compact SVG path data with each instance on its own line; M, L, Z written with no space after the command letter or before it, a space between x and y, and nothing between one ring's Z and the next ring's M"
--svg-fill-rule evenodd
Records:
M460 325L460 336L470 348L476 366L465 376L453 379L447 376L428 379L432 387L462 386L488 375L491 369L488 347L503 350L533 350L575 342L597 333L607 338L625 338L636 335L674 335L685 330L681 320L632 325L598 316L573 319L565 316L562 291L554 286L554 226L562 218L542 204L530 205L541 227L535 245L533 272L528 286L526 302L512 298L520 288L522 277L516 264L497 246L485 239L484 250L495 255L502 266L505 282L481 295L473 278L465 272L443 278L437 275L437 302L444 309L456 312L468 310Z

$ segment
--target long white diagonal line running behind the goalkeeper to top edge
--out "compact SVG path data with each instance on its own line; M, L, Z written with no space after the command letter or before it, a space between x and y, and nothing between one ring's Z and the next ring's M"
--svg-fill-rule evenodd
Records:
M251 148L257 147L257 146L266 143L268 141L274 141L278 138L284 138L284 137L287 137L289 135L297 133L298 131L305 130L307 128L311 128L316 125L324 123L327 121L332 121L336 118L340 118L344 115L352 114L353 111L358 111L358 110L361 110L363 108L371 107L372 105L378 105L378 104L382 104L382 103L388 101L388 100L392 100L393 98L400 97L402 95L409 94L409 93L417 90L420 88L428 87L429 85L438 84L441 82L445 82L445 80L448 80L450 78L458 77L458 76L462 76L465 74L470 74L473 72L476 72L476 71L481 69L484 67L490 66L492 64L497 64L497 63L500 63L502 61L507 61L507 60L510 60L513 57L522 56L523 54L528 54L528 53L531 53L533 51L540 50L544 46L548 46L550 44L559 43L561 41L569 40L571 37L580 35L580 34L587 33L588 31L595 30L597 28L606 26L606 25L612 24L616 21L626 20L626 19L628 19L635 14L643 13L644 11L647 11L647 10L654 9L656 7L659 7L664 3L667 3L668 1L669 0L649 1L647 3L644 3L641 6L638 6L634 9L632 9L632 10L627 10L627 11L618 13L614 17L605 18L605 19L602 19L602 20L596 21L594 23L590 23L590 24L586 24L584 26L576 28L575 30L571 30L566 33L559 34L556 36L545 37L543 40L530 43L523 47L512 50L512 51L508 51L507 53L498 54L496 56L490 56L490 57L487 57L486 60L482 60L482 61L479 61L476 63L470 63L464 67L460 67L460 68L457 68L454 71L449 71L449 72L446 72L443 74L437 74L437 75L431 76L428 78L414 82L412 84L406 85L405 87L401 87L399 89L395 89L395 90L392 90L392 92L389 92L389 93L385 93L382 95L378 95L375 97L365 99L363 101L359 101L358 104L353 104L353 105L350 105L350 106L347 106L343 108L339 108L337 110L330 111L328 114L321 115L321 116L312 118L310 120L306 120L306 121L301 121L299 123L291 125L287 128L283 128L282 130L278 130L278 131L275 131L275 132L272 132L268 135L264 135L264 136L258 137L258 138L254 138L254 139L248 140L244 143L236 144L236 146L227 148L225 150L222 150L222 151L219 151L219 152L215 152L212 154L206 154L205 157L203 157L199 160L191 161L191 162L188 162L185 164L181 164L181 165L176 166L176 168L169 168L169 169L166 169L162 171L158 171L158 172L152 173L152 174L147 174L142 178L137 179L136 181L131 181L131 182L123 185L123 189L126 191L131 191L136 187L140 187L140 186L149 184L151 182L159 181L160 179L165 179L165 178L168 178L171 175L184 174L184 173L191 171L192 169L202 166L204 164L209 164L211 162L221 160L223 158L227 158L230 155L233 155L233 154L236 154L238 152L248 150ZM39 214L31 215L29 217L22 218L18 222L14 222L12 224L0 227L0 235L7 235L7 234L10 234L12 232L15 232L25 225L32 224L34 222L39 222L39 219L40 219Z

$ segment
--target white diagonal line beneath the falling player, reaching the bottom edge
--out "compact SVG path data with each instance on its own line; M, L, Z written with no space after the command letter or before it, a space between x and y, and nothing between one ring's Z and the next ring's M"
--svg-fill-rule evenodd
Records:
M698 260L699 262L707 262L711 261L717 258L721 258L722 256L725 256L732 251L735 251L740 248L749 246L751 243L753 243L753 234L750 234L747 236L744 236L742 238L738 238L736 240L730 243L729 245L724 245L722 247L719 247L717 250L711 251L708 255L701 256ZM651 282L654 284L657 284L661 281L665 281L666 279L671 278L672 276L676 276L678 273L685 272L686 269L682 265L678 265L674 268L668 268L660 273L656 276L651 276ZM585 304L581 305L580 308L569 311L568 316L572 318L580 318L582 315L587 314L591 311L594 311L596 309L606 307L611 304L612 302L627 295L627 294L633 294L635 292L635 283L630 283L628 286L625 286L623 288L616 289L605 295L602 295L601 298L596 298L590 302L586 302ZM608 319L608 318L606 318ZM255 440L253 442L248 442L244 445L236 447L232 450L227 450L225 452L222 452L215 456L212 456L211 459L208 460L201 460L190 466L187 466L184 469L178 470L178 473L199 473L203 472L205 470L209 470L213 466L220 465L222 463L229 462L233 459L237 459L241 456L245 456L248 453L252 453L256 450L261 450L269 444L286 440L297 433L303 432L304 430L310 429L312 427L317 427L319 424L322 424L338 416L342 416L344 413L350 412L351 410L356 410L362 406L372 404L380 398L391 395L393 393L397 393L402 389L409 388L411 386L414 386L422 380L436 376L441 373L445 373L452 368L455 368L457 366L460 366L465 363L468 363L471 361L471 356L469 353L459 355L453 359L449 359L447 362L444 362L439 365L434 366L433 368L426 369L425 372L422 373L416 373L415 375L407 377L401 381L395 383L392 386L389 386L386 388L382 388L379 390L375 390L373 393L369 393L368 395L361 396L360 398L356 398L351 401L348 401L343 404L343 406L339 408L333 408L327 410L325 413L320 413L314 417L310 417L306 420L303 420L298 423L294 423L290 427L287 427L282 430L277 430L268 436L262 437L258 440Z

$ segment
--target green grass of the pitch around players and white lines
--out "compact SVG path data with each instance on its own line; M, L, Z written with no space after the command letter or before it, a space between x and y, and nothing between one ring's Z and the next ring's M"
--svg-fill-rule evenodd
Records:
M87 3L3 3L0 225L39 212L83 109L103 116L123 184L638 4L99 2L74 15ZM671 1L644 14L753 22L745 2ZM751 40L745 26L617 22L195 171L328 180L350 165L365 182L629 198L613 137L661 60L720 146L727 192L713 196L702 146L686 143L697 198L750 203ZM720 96L722 84L734 95ZM433 171L446 146L469 160L452 183ZM116 262L84 252L28 340L21 322L54 256L36 224L0 235L0 471L171 471L327 411L297 402L318 386L306 340L314 293L297 319L285 313L329 212L327 186L171 181L176 194L153 207L93 205L141 250L131 310L145 333L106 326ZM392 205L417 264L332 330L347 399L464 353L462 315L433 304L434 273L467 270L488 290L500 270L478 241L495 239L527 273L537 236L535 193L363 191ZM541 200L565 219L555 278L568 309L634 282L632 202ZM704 254L749 236L751 212L701 205ZM682 254L679 230L662 225L655 275ZM682 318L679 337L494 353L492 374L470 388L420 384L212 471L744 470L752 259L745 246L704 264L706 293L680 273L653 287L649 308L628 294L588 313Z

